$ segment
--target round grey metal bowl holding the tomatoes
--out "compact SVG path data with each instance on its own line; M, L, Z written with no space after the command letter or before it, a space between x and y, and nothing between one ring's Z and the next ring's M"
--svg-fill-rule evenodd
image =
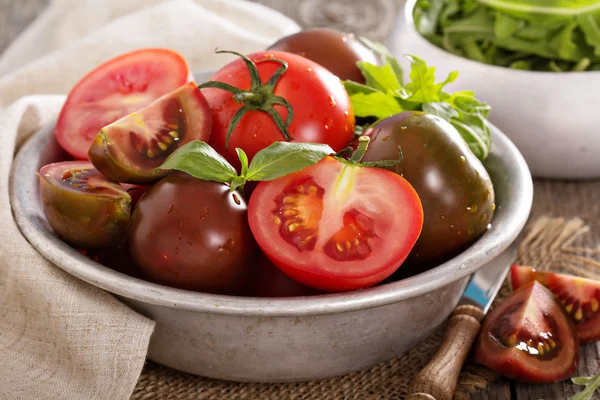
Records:
M35 134L13 165L11 204L21 232L58 267L156 321L150 359L212 378L323 379L405 352L448 317L470 275L516 239L532 203L531 175L523 157L494 128L485 165L496 189L496 215L492 228L454 259L410 278L349 293L282 299L197 293L104 267L54 235L35 175L41 166L66 159L53 131L50 125Z

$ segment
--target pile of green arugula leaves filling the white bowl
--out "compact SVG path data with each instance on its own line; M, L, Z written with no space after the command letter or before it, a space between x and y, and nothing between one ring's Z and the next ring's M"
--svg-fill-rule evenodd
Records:
M554 72L600 69L597 0L419 0L413 17L431 43L478 62Z

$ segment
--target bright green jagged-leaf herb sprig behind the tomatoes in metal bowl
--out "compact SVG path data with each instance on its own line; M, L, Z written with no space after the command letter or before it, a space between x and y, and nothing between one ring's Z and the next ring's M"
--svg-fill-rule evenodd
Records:
M416 56L411 63L410 81L404 83L400 63L385 46L361 38L377 52L383 65L359 61L358 68L366 84L344 81L346 91L357 117L383 119L403 111L424 111L450 122L460 132L471 151L484 160L492 145L487 120L490 106L475 98L475 93L461 91L446 93L443 89L458 78L458 72L443 82L435 82L435 68Z

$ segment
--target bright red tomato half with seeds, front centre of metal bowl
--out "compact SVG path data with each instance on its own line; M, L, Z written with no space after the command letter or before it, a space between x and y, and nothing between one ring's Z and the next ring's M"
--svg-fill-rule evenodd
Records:
M250 229L265 255L315 289L372 286L400 267L423 226L412 186L332 157L256 187Z

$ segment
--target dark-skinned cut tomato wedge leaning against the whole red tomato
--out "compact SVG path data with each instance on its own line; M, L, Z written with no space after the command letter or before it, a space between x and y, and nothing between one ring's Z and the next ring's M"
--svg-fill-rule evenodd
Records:
M102 128L88 154L112 180L150 183L168 173L156 168L177 148L208 141L211 124L208 103L190 82Z

